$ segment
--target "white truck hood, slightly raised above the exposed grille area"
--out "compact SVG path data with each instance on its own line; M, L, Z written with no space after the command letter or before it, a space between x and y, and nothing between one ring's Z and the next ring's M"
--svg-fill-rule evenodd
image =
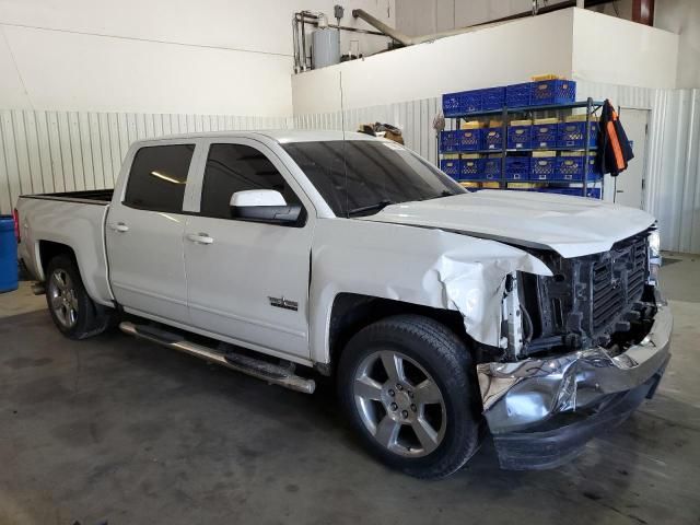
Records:
M642 210L597 199L488 189L392 205L362 220L549 248L567 258L607 252L616 242L655 222Z

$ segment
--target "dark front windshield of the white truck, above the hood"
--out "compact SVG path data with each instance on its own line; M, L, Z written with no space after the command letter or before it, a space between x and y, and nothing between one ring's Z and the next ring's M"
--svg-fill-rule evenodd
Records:
M377 140L282 144L338 217L466 190L410 150Z

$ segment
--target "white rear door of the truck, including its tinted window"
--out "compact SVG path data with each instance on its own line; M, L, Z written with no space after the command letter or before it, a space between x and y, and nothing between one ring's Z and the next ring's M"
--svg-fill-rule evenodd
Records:
M189 324L183 207L195 151L195 140L144 145L133 153L128 178L121 174L126 185L115 189L105 235L113 292L127 311Z

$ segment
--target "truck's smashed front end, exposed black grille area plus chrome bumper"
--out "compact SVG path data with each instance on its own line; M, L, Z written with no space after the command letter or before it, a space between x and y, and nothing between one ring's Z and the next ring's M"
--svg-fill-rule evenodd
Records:
M561 465L654 394L673 327L656 289L655 235L570 259L540 253L552 276L509 277L506 350L477 365L502 468Z

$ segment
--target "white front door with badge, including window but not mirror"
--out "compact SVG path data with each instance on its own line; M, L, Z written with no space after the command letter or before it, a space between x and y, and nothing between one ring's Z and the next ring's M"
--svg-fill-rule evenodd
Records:
M222 139L207 147L201 198L185 229L192 325L248 348L307 359L311 205L262 143ZM288 203L302 203L304 223L232 219L231 196L250 189L275 189Z

